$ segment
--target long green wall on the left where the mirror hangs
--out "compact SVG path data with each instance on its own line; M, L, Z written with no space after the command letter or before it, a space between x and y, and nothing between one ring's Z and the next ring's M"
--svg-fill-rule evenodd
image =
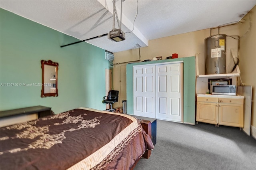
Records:
M41 87L0 86L0 110L42 105L61 113L77 107L104 110L105 50L0 9L0 83L42 83L41 60L59 63L58 97Z

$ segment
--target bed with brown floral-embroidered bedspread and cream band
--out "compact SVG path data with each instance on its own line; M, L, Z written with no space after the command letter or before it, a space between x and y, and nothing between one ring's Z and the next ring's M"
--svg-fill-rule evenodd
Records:
M1 170L130 170L154 149L136 118L90 108L0 130Z

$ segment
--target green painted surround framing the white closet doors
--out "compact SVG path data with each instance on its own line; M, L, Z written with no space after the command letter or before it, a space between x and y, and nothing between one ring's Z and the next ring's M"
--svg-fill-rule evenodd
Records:
M126 100L127 113L133 113L133 66L153 63L165 63L171 61L183 61L183 121L195 124L196 107L196 60L195 57L184 57L177 59L166 59L159 61L148 61L141 63L130 63L126 65Z

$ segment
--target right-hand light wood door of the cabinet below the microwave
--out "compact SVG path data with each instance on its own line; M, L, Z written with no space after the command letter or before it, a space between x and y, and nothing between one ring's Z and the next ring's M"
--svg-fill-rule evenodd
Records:
M219 103L219 125L244 127L244 106L239 104Z

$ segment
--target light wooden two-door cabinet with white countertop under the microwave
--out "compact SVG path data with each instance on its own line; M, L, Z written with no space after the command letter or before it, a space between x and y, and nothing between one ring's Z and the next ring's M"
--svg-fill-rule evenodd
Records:
M244 127L244 96L197 96L196 121Z

